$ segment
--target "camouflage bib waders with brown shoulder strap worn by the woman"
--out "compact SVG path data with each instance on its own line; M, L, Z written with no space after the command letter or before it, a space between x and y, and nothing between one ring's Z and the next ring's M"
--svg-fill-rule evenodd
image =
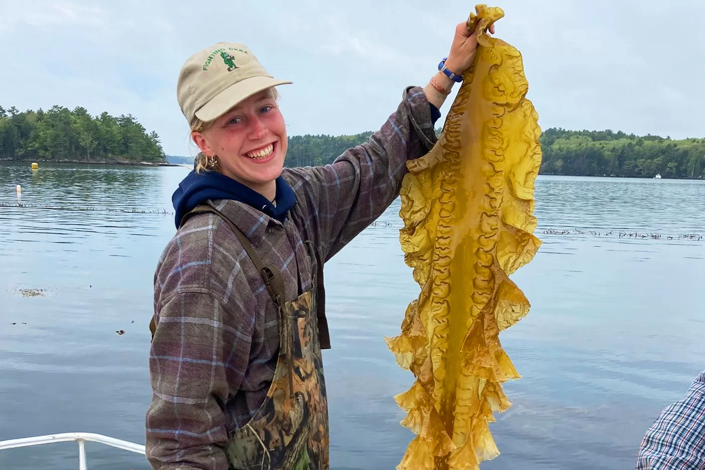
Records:
M314 295L317 276L312 276L311 290L283 302L284 285L278 269L263 266L250 240L214 206L198 206L187 216L202 212L216 214L230 225L262 273L279 310L280 347L274 378L262 407L229 436L226 453L230 469L328 470L328 402ZM310 242L307 246L314 266L317 258Z

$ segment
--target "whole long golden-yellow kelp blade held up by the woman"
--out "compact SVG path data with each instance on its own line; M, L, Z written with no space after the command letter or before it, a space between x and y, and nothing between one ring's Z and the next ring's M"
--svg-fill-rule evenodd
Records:
M474 64L439 142L407 163L401 190L401 245L422 289L387 340L417 378L396 397L417 434L398 469L479 469L496 457L488 423L510 406L501 383L520 378L498 335L529 311L508 275L541 245L532 235L541 130L521 54L484 34L503 11L475 8Z

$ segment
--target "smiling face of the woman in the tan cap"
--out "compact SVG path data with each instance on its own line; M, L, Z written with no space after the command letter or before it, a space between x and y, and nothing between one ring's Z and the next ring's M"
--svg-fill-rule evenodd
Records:
M218 157L223 175L257 192L270 192L284 166L286 124L269 89L240 101L192 137L205 155Z

